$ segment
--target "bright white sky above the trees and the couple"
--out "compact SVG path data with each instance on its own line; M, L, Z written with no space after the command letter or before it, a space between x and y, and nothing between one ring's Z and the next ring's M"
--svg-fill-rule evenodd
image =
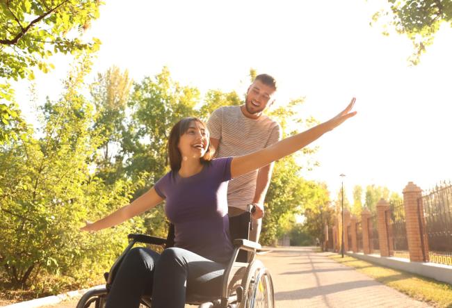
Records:
M92 79L117 65L140 81L168 66L182 85L236 90L249 86L250 67L275 76L275 106L305 97L302 118L328 120L357 97L357 116L314 145L320 166L303 177L323 181L333 197L344 186L387 186L401 193L408 181L423 189L452 177L452 30L410 67L410 40L370 26L385 1L105 1L86 38L102 41ZM38 73L36 102L57 99L70 66ZM27 120L35 119L30 83L15 84ZM38 103L39 104L39 103Z

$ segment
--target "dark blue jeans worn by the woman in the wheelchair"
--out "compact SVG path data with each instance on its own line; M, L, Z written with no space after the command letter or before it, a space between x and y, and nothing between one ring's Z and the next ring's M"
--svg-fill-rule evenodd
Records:
M162 254L134 248L118 269L106 308L138 307L141 295L152 295L152 308L184 308L186 293L220 297L226 266L181 248Z

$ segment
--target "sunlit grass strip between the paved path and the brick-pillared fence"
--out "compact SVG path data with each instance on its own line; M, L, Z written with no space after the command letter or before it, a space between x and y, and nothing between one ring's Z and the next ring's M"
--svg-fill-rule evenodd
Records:
M345 266L356 268L358 272L405 293L411 298L428 302L435 307L452 308L451 284L438 282L434 279L403 272L402 270L386 268L353 257L344 256L344 259L342 259L340 254L332 254L329 257Z

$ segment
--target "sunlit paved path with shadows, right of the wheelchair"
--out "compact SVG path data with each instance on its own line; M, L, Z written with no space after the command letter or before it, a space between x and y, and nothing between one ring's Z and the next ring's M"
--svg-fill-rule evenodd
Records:
M430 307L312 248L277 248L259 256L270 269L277 308Z

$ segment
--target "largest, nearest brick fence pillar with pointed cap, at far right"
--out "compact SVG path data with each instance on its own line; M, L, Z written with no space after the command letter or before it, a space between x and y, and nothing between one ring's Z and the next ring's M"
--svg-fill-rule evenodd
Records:
M425 218L423 217L422 190L413 182L408 182L403 189L403 206L405 207L405 222L407 229L408 251L410 261L428 261ZM418 200L420 201L418 204ZM421 215L419 216L419 213ZM424 248L424 249L422 249Z

